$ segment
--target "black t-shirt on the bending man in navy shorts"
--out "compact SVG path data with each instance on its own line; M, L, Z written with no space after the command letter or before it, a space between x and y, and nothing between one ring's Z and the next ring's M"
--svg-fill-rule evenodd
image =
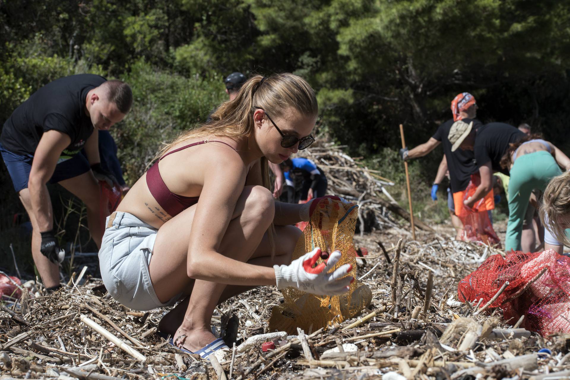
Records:
M2 146L13 153L33 155L42 134L55 129L71 138L62 158L75 156L93 133L85 112L87 93L104 81L99 75L80 74L46 84L6 120L0 136Z

